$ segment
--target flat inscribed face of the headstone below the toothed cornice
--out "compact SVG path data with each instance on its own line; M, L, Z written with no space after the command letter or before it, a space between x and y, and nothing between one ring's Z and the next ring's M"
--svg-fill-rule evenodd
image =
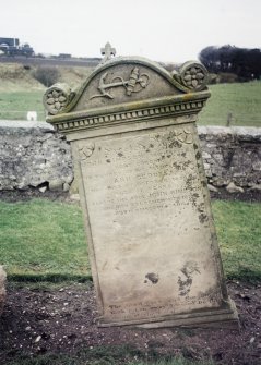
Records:
M105 318L156 318L189 312L191 305L218 306L192 126L93 138L93 144L81 169Z

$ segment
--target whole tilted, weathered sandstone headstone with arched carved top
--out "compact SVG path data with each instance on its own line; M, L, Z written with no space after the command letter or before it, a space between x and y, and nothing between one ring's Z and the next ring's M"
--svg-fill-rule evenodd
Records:
M114 58L44 96L72 146L100 326L237 325L195 127L206 82L197 62Z

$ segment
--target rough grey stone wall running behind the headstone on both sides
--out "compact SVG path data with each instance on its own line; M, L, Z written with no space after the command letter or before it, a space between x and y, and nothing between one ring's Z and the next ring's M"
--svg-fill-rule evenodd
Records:
M261 186L261 127L199 126L209 183ZM0 190L68 191L70 145L43 122L0 121Z

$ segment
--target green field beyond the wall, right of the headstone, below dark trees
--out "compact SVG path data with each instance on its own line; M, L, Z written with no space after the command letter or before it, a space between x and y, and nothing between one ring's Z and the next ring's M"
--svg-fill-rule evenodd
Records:
M210 85L211 98L199 115L199 125L261 126L261 82Z

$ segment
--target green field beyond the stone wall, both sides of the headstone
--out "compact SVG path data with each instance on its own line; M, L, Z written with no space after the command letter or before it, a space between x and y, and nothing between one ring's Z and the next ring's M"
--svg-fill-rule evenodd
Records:
M200 125L261 126L261 82L210 85L212 93L200 113ZM5 92L0 89L0 120L26 120L28 110L36 110L38 120L45 120L43 90Z

